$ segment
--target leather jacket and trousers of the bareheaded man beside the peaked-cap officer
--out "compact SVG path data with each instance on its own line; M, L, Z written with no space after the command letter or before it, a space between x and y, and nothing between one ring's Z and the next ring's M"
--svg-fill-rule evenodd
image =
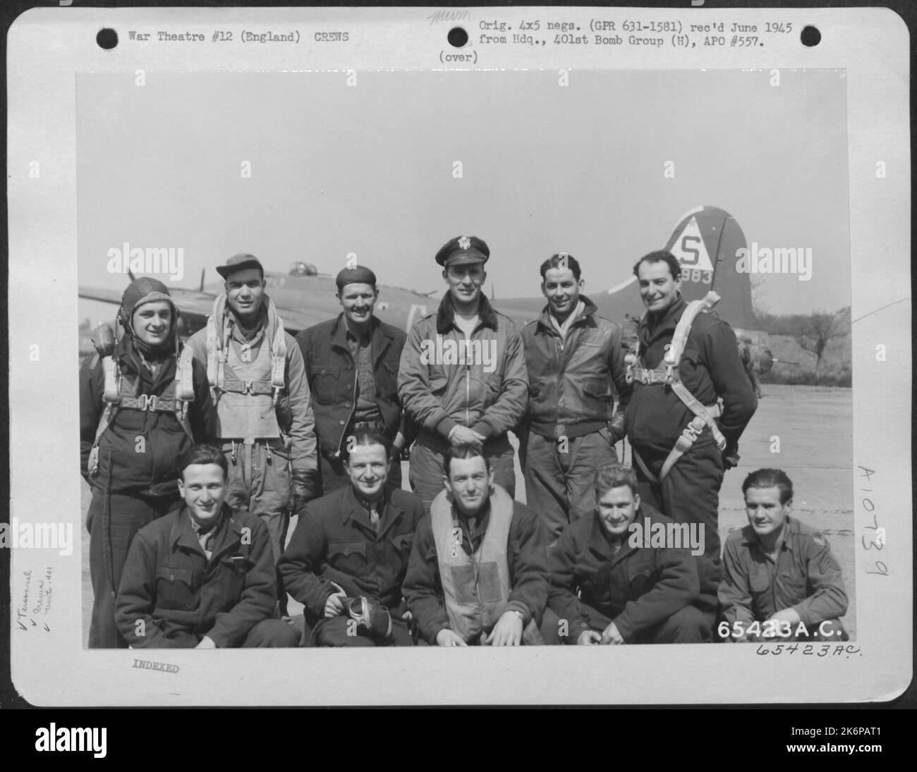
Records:
M595 469L617 461L631 384L624 378L621 329L584 309L562 338L548 307L522 329L529 401L520 444L525 500L543 518L550 542L595 506ZM574 312L575 313L575 312ZM617 407L614 398L617 396Z

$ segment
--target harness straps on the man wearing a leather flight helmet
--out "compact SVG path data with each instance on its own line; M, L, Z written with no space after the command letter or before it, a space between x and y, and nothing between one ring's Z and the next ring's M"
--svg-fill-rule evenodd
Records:
M95 430L95 440L89 451L88 469L91 477L99 471L99 442L105 430L115 420L118 411L141 410L156 413L173 413L184 433L194 441L191 424L188 420L188 405L194 401L193 352L190 347L179 351L179 337L175 336L175 375L161 395L141 394L139 376L130 376L121 371L115 358L117 342L123 337L120 325L99 325L93 336L96 356L90 367L94 368L99 358L102 359L104 388L102 401L105 409Z

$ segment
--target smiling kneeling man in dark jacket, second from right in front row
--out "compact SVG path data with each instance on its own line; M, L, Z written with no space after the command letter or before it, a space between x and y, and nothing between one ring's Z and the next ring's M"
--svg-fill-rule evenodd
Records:
M541 626L546 643L710 639L707 618L691 605L701 587L691 548L702 554L702 531L687 535L688 524L641 504L636 486L632 469L614 464L596 470L595 511L564 528L548 558L551 589Z

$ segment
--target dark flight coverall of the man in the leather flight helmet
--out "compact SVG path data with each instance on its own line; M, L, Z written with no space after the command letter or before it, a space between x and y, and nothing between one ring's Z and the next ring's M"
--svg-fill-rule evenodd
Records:
M136 381L137 395L161 397L175 378L174 357L153 375L138 356L129 336L117 343L115 358L121 389ZM194 441L212 440L213 403L204 368L193 362L194 400L188 423ZM89 571L93 584L90 648L127 648L115 624L115 597L134 536L144 526L168 513L179 500L178 459L193 446L177 416L171 412L118 407L99 437L99 469L88 469L95 432L103 414L105 375L102 358L89 359L80 369L80 456L83 478L93 489L86 513Z

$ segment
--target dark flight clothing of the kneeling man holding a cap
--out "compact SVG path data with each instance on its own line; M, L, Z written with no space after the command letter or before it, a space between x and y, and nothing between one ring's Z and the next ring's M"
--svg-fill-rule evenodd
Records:
M395 645L414 643L403 620L402 582L424 505L386 485L377 513L378 528L350 485L309 502L277 565L284 589L303 603L317 645L375 645L361 630L348 636L347 618L325 618L335 585L349 598L366 596L388 608Z

